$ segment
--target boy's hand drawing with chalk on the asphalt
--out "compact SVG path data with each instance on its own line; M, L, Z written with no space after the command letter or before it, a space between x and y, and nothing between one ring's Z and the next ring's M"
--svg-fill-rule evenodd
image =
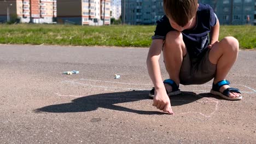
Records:
M164 112L168 112L173 115L170 99L166 93L165 88L155 89L155 97L153 100L153 106Z

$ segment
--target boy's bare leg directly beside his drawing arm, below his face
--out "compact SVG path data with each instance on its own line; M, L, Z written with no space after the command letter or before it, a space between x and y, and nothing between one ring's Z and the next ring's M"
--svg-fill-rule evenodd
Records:
M166 34L163 55L165 61L166 70L170 76L170 79L179 85L179 71L181 69L183 57L187 54L182 33L178 31L171 31ZM172 88L166 86L166 89L170 92Z

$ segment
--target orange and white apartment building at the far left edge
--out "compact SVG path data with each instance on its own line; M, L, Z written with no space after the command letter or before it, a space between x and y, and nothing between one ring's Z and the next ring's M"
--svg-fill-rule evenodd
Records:
M0 1L0 21L19 19L25 23L53 23L57 16L56 8L56 0Z

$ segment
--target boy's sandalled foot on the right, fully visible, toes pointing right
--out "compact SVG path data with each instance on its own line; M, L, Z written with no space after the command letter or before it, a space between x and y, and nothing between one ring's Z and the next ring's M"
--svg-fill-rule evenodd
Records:
M227 80L222 80L213 83L211 92L212 94L219 95L220 97L228 100L240 100L242 99L239 89L232 88L229 86L230 82Z

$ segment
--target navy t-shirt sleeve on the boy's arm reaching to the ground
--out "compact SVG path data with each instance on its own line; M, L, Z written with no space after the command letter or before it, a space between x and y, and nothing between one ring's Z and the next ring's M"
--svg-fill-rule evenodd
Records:
M165 36L168 33L168 23L170 22L166 15L156 21L155 34L152 36L152 39L165 39Z

